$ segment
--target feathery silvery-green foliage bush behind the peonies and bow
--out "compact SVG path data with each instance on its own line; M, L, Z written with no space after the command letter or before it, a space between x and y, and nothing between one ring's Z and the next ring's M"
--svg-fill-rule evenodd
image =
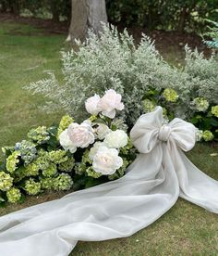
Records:
M143 112L143 96L151 87L174 88L181 99L176 115L186 118L190 101L197 96L218 103L218 59L206 59L197 50L186 46L183 70L166 63L151 39L142 34L138 46L131 35L103 26L100 36L89 32L85 43L76 42L77 50L62 52L64 80L59 83L54 73L27 86L33 94L42 94L52 104L51 109L63 108L67 113L84 118L84 101L93 94L103 95L114 88L123 96L126 109L123 118L132 125ZM49 105L48 105L49 106Z

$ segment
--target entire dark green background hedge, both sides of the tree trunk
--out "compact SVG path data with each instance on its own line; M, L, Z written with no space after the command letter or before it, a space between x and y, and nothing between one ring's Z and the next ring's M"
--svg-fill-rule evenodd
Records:
M1 0L0 10L19 15L28 9L37 16L49 12L53 19L70 19L70 0ZM218 20L218 0L106 0L108 19L124 26L150 30L198 31L205 19Z

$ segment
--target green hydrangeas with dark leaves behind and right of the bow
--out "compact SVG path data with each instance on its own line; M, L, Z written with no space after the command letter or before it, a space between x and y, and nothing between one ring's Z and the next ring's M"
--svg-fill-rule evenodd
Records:
M218 105L212 106L204 97L190 97L189 101L190 104L187 109L186 103L180 98L176 90L165 88L159 91L150 88L144 94L143 107L146 112L150 112L156 106L162 106L166 122L174 119L179 111L179 116L185 115L188 111L188 122L192 122L199 128L198 141L218 140ZM183 108L181 108L182 106Z

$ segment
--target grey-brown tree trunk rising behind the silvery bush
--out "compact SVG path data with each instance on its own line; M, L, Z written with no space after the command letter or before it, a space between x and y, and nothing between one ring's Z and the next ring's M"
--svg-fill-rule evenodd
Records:
M107 22L105 0L72 0L71 22L67 41L83 41L88 29L102 31L101 21Z

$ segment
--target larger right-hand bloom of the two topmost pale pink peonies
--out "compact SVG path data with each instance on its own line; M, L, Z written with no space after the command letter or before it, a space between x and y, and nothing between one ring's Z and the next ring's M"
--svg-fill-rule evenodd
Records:
M115 109L124 109L124 104L121 102L121 99L122 96L116 94L115 90L107 90L105 95L100 99L98 108L102 111L104 116L113 119L115 118Z

